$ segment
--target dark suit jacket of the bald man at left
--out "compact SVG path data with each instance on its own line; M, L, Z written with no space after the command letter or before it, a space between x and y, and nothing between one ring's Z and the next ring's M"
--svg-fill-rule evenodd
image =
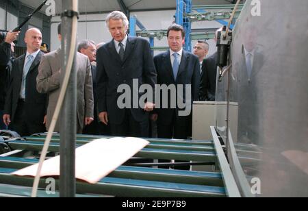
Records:
M26 118L33 123L42 123L47 110L47 95L40 94L36 90L36 76L38 75L38 65L44 53L39 52L32 63L26 79ZM11 115L14 121L18 100L21 93L21 81L23 79L23 66L25 64L25 54L17 58L12 66L12 77L10 88L5 100L5 114Z

